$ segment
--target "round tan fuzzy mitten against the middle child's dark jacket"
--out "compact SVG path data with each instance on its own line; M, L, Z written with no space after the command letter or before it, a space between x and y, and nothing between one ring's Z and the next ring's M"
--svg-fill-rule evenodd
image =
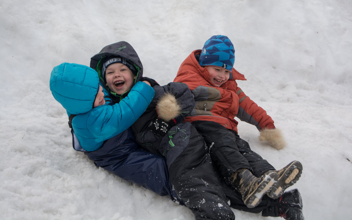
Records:
M177 103L174 95L166 93L157 102L156 109L159 118L170 121L181 114L181 106Z

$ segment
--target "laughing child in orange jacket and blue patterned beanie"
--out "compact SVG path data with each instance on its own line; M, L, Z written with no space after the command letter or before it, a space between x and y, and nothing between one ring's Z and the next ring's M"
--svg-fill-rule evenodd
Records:
M192 122L202 134L222 176L230 184L238 185L239 182L250 181L252 174L263 176L276 172L278 180L267 194L278 198L299 179L302 164L293 161L276 171L237 134L235 116L255 125L261 133L261 140L277 149L284 146L271 117L237 86L235 80L246 79L233 68L234 52L227 36L214 35L205 42L202 50L193 51L183 61L174 82L186 83L191 89L196 105L186 121ZM232 156L234 154L237 156ZM237 189L242 195L247 190Z

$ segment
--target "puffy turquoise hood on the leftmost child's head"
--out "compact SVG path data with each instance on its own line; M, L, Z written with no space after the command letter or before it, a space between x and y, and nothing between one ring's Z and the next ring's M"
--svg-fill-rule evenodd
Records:
M90 111L98 90L98 73L88 66L62 63L51 71L50 91L68 115Z

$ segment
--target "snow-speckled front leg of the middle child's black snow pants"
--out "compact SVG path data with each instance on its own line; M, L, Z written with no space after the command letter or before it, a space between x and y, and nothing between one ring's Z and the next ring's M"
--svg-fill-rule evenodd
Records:
M172 127L162 139L172 187L195 219L235 219L207 146L189 123Z

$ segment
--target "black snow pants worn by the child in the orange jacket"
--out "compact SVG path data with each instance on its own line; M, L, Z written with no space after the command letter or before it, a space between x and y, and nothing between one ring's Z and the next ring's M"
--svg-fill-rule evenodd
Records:
M210 156L226 181L240 168L247 168L253 175L260 176L275 168L259 154L252 151L249 144L234 131L213 121L194 121L192 125L210 147Z

